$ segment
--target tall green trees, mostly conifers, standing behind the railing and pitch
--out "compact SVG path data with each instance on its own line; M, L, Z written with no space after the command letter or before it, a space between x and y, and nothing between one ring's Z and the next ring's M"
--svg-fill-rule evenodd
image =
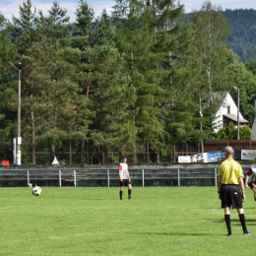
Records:
M45 16L27 0L19 17L0 19L2 158L12 158L17 136L18 72L9 61L21 70L23 163L60 153L68 163L168 157L178 142L219 138L212 93L237 100L234 86L253 122L253 68L226 48L229 26L211 2L187 16L172 0L116 0L111 16L96 17L81 0L71 23L57 2Z

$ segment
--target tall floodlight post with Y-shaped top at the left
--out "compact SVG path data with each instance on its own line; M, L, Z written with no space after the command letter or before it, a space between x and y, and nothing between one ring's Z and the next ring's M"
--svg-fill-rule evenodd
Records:
M14 69L18 71L18 114L17 114L17 154L16 154L16 161L17 165L22 164L22 152L21 152L21 144L22 144L22 137L21 137L21 77L22 71L28 69L31 64L28 64L23 69L19 69L16 67L11 61L8 62ZM21 64L21 63L20 63Z

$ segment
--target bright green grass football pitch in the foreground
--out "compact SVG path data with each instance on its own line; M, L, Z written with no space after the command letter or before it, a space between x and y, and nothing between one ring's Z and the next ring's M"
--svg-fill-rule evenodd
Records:
M256 202L246 189L243 236L236 210L226 236L217 187L0 188L0 255L248 255Z

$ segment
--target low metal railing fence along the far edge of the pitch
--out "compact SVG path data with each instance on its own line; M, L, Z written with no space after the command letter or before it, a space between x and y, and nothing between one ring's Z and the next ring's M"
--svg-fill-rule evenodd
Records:
M133 186L217 186L217 168L130 169ZM2 169L0 186L118 187L116 169Z

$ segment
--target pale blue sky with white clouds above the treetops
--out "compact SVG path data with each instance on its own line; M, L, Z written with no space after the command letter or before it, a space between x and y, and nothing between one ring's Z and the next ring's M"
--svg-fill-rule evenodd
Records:
M111 11L111 7L114 5L114 0L84 0L95 11L96 16L100 15L101 11L105 9L108 13ZM11 20L12 15L19 18L19 5L27 0L0 0L0 13L8 20ZM56 0L61 8L68 10L68 15L71 18L71 22L75 21L75 12L79 6L79 0ZM190 13L192 10L200 10L204 1L198 0L180 0L181 4L184 4L186 13ZM225 9L254 9L256 10L256 0L212 0L213 5L219 5L223 10ZM32 5L36 10L41 10L46 16L47 11L51 9L53 0L32 0Z

